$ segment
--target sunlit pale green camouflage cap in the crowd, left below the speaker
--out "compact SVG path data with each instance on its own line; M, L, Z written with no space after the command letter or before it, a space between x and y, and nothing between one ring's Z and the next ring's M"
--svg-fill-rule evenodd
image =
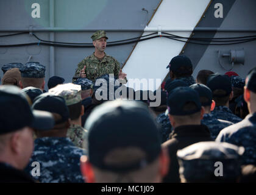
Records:
M73 83L57 85L56 87L51 88L49 93L64 98L66 105L73 105L82 101L81 86Z

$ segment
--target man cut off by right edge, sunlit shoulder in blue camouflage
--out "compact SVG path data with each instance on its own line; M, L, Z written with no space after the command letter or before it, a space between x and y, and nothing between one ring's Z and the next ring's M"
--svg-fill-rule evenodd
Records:
M223 129L216 141L244 146L243 165L256 165L256 68L246 77L244 100L249 115L243 121Z

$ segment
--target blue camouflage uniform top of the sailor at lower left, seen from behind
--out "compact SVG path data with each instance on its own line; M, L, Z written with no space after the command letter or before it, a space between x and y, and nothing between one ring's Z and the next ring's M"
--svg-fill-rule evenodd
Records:
M85 151L61 137L43 137L35 140L35 149L25 171L31 175L32 162L40 163L41 183L84 183L80 171L80 157Z

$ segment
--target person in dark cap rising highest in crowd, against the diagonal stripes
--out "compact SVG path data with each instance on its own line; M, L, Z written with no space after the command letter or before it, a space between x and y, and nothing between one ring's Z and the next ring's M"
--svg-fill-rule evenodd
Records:
M169 68L171 80L182 80L187 83L188 86L196 83L193 76L191 76L193 73L193 65L186 55L177 55L172 58L166 68Z

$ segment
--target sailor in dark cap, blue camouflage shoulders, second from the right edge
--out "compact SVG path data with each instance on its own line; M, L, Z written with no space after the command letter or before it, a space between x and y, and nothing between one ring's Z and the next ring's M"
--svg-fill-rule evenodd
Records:
M229 109L229 100L233 98L229 77L218 73L211 74L207 80L207 87L212 90L213 100L216 104L212 115L225 121L240 122L242 119L234 115Z

